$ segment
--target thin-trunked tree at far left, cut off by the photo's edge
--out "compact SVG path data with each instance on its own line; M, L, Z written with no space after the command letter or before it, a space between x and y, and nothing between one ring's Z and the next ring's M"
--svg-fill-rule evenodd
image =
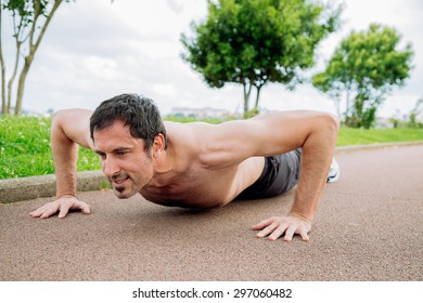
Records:
M64 1L68 2L69 0ZM8 82L8 89L5 89L5 63L2 55L2 36L0 31L2 114L10 114L11 111L13 84L18 73L15 115L21 115L25 81L30 65L51 18L62 2L63 0L1 0L0 24L3 10L8 10L12 15L13 38L15 41L13 71ZM23 51L26 52L22 54ZM21 64L22 57L24 57L23 64ZM21 70L18 71L20 68ZM8 96L5 95L7 90Z

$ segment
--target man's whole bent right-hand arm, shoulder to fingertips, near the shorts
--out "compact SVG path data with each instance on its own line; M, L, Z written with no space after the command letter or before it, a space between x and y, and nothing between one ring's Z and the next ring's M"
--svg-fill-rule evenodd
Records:
M257 236L275 240L294 234L308 240L311 222L325 186L337 137L338 121L319 111L271 113L251 120L227 124L216 132L209 148L210 160L240 162L251 156L271 156L303 148L302 173L290 213L273 216L253 226Z

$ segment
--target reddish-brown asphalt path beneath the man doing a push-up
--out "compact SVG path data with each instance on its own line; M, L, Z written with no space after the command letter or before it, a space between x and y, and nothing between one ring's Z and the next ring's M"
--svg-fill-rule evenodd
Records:
M423 280L423 145L337 155L310 241L255 237L294 190L219 209L166 208L110 190L92 213L40 220L51 198L0 205L0 280Z

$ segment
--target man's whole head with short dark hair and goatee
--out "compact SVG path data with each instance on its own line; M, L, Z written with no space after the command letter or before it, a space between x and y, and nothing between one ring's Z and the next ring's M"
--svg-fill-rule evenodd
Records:
M155 159L166 148L165 127L151 100L124 94L104 101L91 116L90 132L117 197L129 198L151 182Z

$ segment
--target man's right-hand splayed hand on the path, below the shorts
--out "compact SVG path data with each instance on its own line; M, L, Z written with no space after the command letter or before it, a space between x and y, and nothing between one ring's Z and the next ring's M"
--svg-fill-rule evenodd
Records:
M283 240L287 242L292 240L292 237L295 234L302 236L304 241L308 241L308 233L311 230L311 222L293 214L287 216L272 216L253 225L252 229L260 230L257 234L258 238L269 236L269 240L273 241L283 234L285 234Z

